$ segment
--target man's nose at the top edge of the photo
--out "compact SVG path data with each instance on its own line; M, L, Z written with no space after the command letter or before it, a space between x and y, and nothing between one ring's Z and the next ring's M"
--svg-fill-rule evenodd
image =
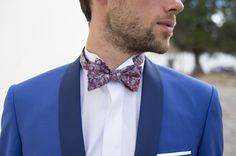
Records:
M170 14L177 15L184 10L184 4L181 0L166 0L166 11Z

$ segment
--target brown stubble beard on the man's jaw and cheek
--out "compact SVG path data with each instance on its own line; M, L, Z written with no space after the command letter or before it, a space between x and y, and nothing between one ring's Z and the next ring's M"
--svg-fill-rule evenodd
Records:
M105 39L113 47L131 55L143 52L163 54L168 50L169 44L162 43L158 39L160 36L154 34L155 25L156 23L152 23L148 28L144 27L141 19L133 17L128 9L116 7L107 14ZM161 35L169 42L169 34Z

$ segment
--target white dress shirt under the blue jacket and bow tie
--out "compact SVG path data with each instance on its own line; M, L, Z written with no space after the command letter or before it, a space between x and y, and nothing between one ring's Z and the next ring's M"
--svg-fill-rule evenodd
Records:
M85 50L86 58L98 56ZM117 69L132 65L132 57ZM142 64L143 67L144 63ZM81 113L86 156L134 156L142 78L137 92L119 82L88 91L87 71L82 69Z

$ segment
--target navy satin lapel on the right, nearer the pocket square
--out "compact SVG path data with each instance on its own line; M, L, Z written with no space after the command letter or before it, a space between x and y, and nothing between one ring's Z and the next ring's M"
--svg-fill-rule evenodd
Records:
M146 58L135 156L158 152L163 111L163 86L156 65Z

